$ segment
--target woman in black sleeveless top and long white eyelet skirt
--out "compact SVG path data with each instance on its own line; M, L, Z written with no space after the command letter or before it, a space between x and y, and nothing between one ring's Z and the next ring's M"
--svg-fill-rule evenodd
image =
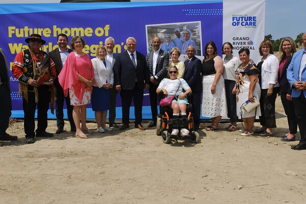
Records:
M209 41L205 46L202 62L202 105L201 115L212 119L211 125L205 127L207 131L219 128L222 116L227 115L226 96L223 72L223 60L217 55L217 46Z

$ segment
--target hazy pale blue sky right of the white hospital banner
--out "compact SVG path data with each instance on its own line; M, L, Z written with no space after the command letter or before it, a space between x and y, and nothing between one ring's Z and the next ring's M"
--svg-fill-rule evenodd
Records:
M265 35L273 40L306 32L305 0L266 0Z

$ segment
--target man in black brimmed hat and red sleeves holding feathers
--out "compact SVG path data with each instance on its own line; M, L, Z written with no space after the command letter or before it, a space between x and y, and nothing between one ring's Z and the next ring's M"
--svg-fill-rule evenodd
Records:
M47 133L47 111L51 103L54 112L55 89L53 81L56 78L55 64L47 53L41 50L46 42L38 34L32 34L25 39L29 49L19 52L14 60L12 72L19 81L19 93L22 94L24 112L24 132L26 143L35 142L36 137L53 137ZM37 129L35 129L35 109L37 105Z

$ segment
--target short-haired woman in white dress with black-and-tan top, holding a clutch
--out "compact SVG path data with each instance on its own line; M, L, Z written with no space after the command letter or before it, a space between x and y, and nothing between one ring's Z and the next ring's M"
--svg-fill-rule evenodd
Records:
M250 60L250 50L243 48L239 50L239 59L242 62L236 70L236 86L233 89L233 93L237 96L237 115L242 115L244 122L244 132L241 136L253 135L253 123L256 115L260 116L260 106L251 111L250 113L240 109L241 105L249 100L254 102L255 96L260 98L261 90L258 83L259 70L255 66L254 62Z

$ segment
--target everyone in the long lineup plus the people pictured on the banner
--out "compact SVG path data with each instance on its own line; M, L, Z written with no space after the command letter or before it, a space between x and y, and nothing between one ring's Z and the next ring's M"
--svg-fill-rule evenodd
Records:
M71 39L72 49L68 49L68 37L60 34L57 38L59 47L46 54L41 50L45 41L40 35L32 34L25 39L29 49L18 53L12 66L23 99L27 143L34 143L35 137L53 137L52 133L46 132L49 103L52 112L53 103L56 103L56 133L64 131L64 100L70 131L75 132L76 137L86 139L88 134L93 134L86 126L86 107L89 103L95 111L97 131L112 131L110 127L118 127L114 121L118 92L122 104L120 130L130 127L132 99L135 127L145 130L141 123L145 88L149 91L152 113L152 122L148 127L157 125L158 94L161 91L167 95L177 95L170 105L173 117L186 117L186 105L189 103L186 95L192 92L190 103L193 105L194 130L199 129L200 114L212 120L205 127L206 131L218 130L222 116L230 118L227 131L236 131L238 116L241 116L244 123L242 136L253 135L254 132L260 136L273 135L272 130L276 127L275 99L280 92L289 124L289 132L280 137L283 141L295 141L298 125L301 140L291 148L306 149L306 109L303 106L306 100L306 75L303 72L306 63L306 34L302 39L304 49L297 53L294 41L290 37L284 38L279 46L282 53L279 60L273 55L272 43L264 40L259 47L262 59L255 64L247 48L239 51L239 62L232 54L233 45L230 42L222 46L222 54L225 55L222 60L217 55L217 46L213 41L206 44L201 62L195 57L196 48L194 41L190 42L190 31L184 30L182 33L184 41L181 40L180 31L175 29L177 39L171 42L171 36L166 35L165 45L161 43L161 38L154 37L153 49L146 57L136 51L137 42L134 37L126 39L126 52L114 54L115 41L109 37L105 40L105 46L98 46L94 59L83 53L85 41L80 36ZM0 91L10 97L7 62L3 50L0 50L0 54ZM188 60L180 62L181 54L186 54ZM171 64L169 58L172 59ZM246 112L240 108L246 100L253 102L255 99L260 100L260 106L253 111ZM10 98L8 101L11 101ZM35 130L36 106L38 124ZM2 114L0 119L0 140L16 140L17 137L6 133L8 122L2 122L10 117L11 103L6 107L6 114ZM109 126L106 126L107 110ZM253 131L256 116L260 117L262 127ZM173 130L172 134L185 136L188 130Z

